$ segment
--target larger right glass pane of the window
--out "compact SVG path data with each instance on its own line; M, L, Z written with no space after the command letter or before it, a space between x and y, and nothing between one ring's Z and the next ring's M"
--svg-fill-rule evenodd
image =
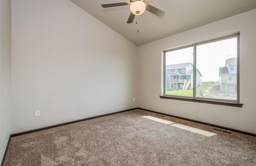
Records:
M237 37L196 46L196 96L237 100Z

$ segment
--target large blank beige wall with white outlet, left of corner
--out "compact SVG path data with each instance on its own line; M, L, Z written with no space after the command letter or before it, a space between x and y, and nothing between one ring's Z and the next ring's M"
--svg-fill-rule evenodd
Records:
M11 63L12 133L137 107L137 47L69 0L12 0Z

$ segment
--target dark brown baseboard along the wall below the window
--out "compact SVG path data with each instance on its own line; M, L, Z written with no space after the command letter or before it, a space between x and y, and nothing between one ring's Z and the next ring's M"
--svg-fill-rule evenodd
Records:
M144 110L144 111L153 112L153 113L159 113L159 114L166 115L166 116L169 116L169 117L174 117L174 118L178 118L178 119L188 120L188 121L191 121L191 122L205 124L205 125L212 126L212 127L215 127L215 128L221 128L221 129L224 129L224 130L234 131L234 132L237 132L237 133L241 133L241 134L245 134L245 135L250 135L250 136L256 137L256 133L250 133L250 132L247 132L247 131L241 131L241 130L236 130L236 129L232 129L232 128L227 128L227 127L219 126L219 125L216 125L216 124L201 122L201 121L193 120L193 119L187 119L187 118L184 118L184 117L178 117L178 116L175 116L175 115L170 115L170 114L167 114L167 113L161 113L161 112L157 112L157 111L152 111L152 110L149 110L149 109L144 109L144 108L138 108L138 109L141 109L141 110Z

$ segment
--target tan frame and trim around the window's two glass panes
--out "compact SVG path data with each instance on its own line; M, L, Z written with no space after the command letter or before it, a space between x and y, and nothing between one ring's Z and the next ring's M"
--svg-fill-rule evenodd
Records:
M205 97L197 97L196 96L196 89L197 88L193 88L193 97L191 96L181 96L181 95L168 95L168 94L165 94L165 77L166 77L166 74L165 74L165 59L166 59L166 52L169 52L169 51L174 51L174 50L177 50L177 49L184 49L184 48L187 48L187 47L193 47L193 85L195 86L196 85L196 69L197 69L197 66L196 66L196 58L197 58L197 55L196 55L196 48L197 46L200 46L200 45L203 45L203 44L208 44L208 43L212 43L212 42L218 42L218 41L221 41L221 40L226 40L226 39L230 39L230 38L237 38L237 100L225 100L225 99L212 99L212 98L205 98ZM224 37L221 37L221 38L215 38L215 39L212 39L212 40L207 40L207 41L204 41L204 42L198 42L198 43L194 43L194 44L190 44L190 45L187 45L187 46L182 46L182 47L174 47L172 49L167 49L167 50L164 50L163 51L163 91L162 91L162 95L160 96L160 98L164 98L164 99L175 99L175 100L183 100L183 99L189 99L189 101L195 101L195 102L199 102L200 101L203 101L204 103L210 103L210 104L213 104L213 102L217 102L217 103L231 103L231 104L234 104L234 103L239 103L240 102L240 85L239 85L239 73L240 73L240 69L239 69L239 57L240 57L240 44L239 44L239 41L240 41L240 33L236 33L236 34L233 34L233 35L229 35L229 36L224 36ZM225 105L225 104L221 104L221 105ZM226 104L227 105L227 104ZM239 105L240 107L240 105Z

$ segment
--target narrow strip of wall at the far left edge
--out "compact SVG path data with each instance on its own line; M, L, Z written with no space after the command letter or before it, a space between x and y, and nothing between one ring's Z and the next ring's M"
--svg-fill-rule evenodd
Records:
M0 163L11 133L11 0L0 0Z

